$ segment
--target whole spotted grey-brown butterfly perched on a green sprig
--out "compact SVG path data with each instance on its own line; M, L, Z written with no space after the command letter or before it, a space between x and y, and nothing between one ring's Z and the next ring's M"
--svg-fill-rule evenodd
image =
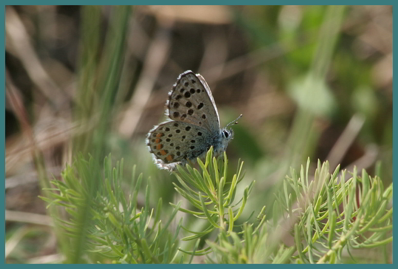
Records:
M155 125L146 145L159 169L174 171L188 160L203 159L211 146L214 156L225 151L234 137L229 125L220 128L220 117L209 85L204 78L187 70L180 74L166 102L168 120Z

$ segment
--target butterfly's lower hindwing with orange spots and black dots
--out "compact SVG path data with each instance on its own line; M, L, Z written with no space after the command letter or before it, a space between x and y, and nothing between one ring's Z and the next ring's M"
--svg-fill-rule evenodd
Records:
M149 131L146 145L159 168L173 170L186 159L196 160L210 149L211 134L201 126L166 121Z

